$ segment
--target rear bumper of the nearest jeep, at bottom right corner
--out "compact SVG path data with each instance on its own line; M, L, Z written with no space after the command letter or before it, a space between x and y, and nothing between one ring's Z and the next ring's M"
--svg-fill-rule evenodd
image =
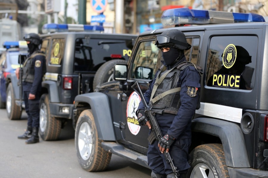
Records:
M258 169L228 167L228 172L230 178L268 178L268 171Z

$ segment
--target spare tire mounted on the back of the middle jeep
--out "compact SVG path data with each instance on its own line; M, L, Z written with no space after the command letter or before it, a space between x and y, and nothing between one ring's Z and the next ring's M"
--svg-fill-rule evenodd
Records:
M122 59L113 59L105 62L96 72L93 80L93 90L97 85L101 85L105 82L113 81L113 68L116 64L127 64L127 61Z

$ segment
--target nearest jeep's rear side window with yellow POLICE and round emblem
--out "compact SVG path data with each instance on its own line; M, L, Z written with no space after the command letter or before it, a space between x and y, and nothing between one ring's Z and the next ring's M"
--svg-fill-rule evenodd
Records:
M212 37L206 65L206 84L252 90L257 47L257 36Z

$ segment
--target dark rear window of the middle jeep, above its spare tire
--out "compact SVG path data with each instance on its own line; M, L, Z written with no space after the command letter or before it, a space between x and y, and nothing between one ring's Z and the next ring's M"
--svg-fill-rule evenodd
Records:
M74 70L97 71L102 63L116 59L128 60L132 40L79 38L75 44Z

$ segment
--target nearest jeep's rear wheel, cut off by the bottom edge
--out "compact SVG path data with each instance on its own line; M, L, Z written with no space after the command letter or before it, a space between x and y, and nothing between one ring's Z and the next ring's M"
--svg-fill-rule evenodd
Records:
M187 178L229 178L222 144L203 144L190 153Z

